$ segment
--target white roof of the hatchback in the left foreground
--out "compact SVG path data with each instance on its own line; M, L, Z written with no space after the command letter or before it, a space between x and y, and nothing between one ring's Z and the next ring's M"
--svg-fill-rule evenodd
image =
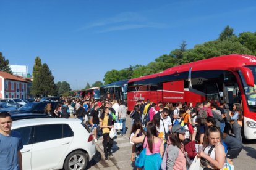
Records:
M73 124L73 123L81 123L80 119L67 119L67 118L35 118L35 119L22 119L12 122L12 129L16 129L19 127L26 126L35 126L35 125L43 125L43 124Z

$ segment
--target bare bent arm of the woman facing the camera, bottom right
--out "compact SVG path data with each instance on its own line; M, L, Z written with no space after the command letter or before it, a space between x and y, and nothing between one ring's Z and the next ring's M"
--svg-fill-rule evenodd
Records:
M198 155L200 157L205 158L207 161L209 161L210 164L212 164L216 169L223 168L224 162L225 162L225 151L223 145L218 145L215 147L215 159L208 156L205 152L200 152Z

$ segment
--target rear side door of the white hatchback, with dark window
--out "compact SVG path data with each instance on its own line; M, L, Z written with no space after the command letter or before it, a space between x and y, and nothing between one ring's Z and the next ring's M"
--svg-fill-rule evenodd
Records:
M32 169L53 169L65 158L74 133L63 136L62 124L46 124L35 126Z

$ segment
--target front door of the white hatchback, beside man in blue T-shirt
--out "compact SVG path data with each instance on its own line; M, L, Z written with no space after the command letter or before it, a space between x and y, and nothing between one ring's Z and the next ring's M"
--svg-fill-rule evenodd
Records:
M18 131L22 137L23 149L20 150L22 153L22 168L23 170L32 169L31 168L31 153L32 153L32 134L33 126L21 127L19 129L14 129Z

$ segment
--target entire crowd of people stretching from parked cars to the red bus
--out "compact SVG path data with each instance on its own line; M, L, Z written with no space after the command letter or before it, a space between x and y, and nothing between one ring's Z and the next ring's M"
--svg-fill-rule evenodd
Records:
M95 142L101 134L105 160L113 156L113 138L109 134L114 123L122 123L120 136L126 134L127 107L119 100L67 99L54 111L49 111L50 108L46 105L45 113L78 118L87 124ZM223 101L205 101L195 106L177 102L174 106L139 100L129 116L130 160L137 169L189 169L194 158L200 158L203 169L222 169L226 163L233 164L242 150L243 116L237 103L229 111ZM136 160L143 150L145 163L141 166Z

